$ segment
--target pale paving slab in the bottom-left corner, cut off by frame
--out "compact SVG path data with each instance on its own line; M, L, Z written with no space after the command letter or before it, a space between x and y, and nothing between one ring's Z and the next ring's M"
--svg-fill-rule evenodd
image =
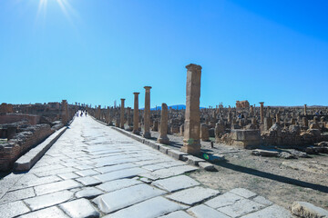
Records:
M14 217L23 213L27 213L30 210L22 201L13 203L5 203L0 205L0 218Z

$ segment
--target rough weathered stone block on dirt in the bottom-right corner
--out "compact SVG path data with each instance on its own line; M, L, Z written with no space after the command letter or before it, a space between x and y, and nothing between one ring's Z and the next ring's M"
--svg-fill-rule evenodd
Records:
M328 211L306 202L292 203L292 213L304 218L328 217Z

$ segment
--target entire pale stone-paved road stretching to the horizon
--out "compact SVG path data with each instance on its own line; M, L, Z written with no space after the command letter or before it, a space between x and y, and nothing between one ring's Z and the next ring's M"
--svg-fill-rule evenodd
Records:
M246 189L207 188L195 170L78 117L28 173L0 181L0 217L291 217Z

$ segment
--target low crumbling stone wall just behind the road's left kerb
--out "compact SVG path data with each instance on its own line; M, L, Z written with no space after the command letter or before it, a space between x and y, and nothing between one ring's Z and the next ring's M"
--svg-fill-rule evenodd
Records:
M31 125L15 134L6 144L0 144L0 171L8 171L22 154L53 133L48 124Z

